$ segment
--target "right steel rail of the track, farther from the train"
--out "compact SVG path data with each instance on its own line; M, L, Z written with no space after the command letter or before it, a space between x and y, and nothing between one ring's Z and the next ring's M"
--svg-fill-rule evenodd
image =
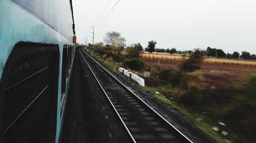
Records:
M156 110L154 110L151 106L149 106L147 103L145 103L142 99L140 99L133 91L131 91L129 88L127 88L121 81L119 81L114 75L112 75L108 70L106 70L104 67L102 67L97 61L95 61L89 54L87 54L83 49L82 51L88 55L90 59L92 59L99 67L101 67L104 71L106 71L109 75L111 75L118 83L120 83L126 90L131 92L135 97L137 97L141 102L143 102L147 107L149 107L152 111L154 111L164 122L166 122L168 125L170 125L172 128L174 128L178 133L180 133L187 141L193 143L188 137L186 137L181 131L179 131L174 125L170 124L166 119L164 119Z

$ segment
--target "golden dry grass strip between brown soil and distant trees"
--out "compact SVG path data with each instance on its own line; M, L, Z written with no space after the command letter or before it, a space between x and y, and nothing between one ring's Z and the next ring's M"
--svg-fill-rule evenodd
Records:
M144 59L157 59L157 60L173 60L173 61L182 61L183 58L181 54L172 54L169 53L157 53L149 52L141 53L141 57ZM231 59L217 59L217 58L207 58L203 60L204 63L216 63L216 64L233 64L233 65L244 65L244 66L256 66L254 61L243 61L243 60L231 60Z

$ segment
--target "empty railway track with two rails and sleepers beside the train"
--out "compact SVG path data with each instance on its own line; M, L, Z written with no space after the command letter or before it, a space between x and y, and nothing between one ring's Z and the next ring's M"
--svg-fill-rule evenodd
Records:
M80 54L133 142L192 142L90 55L81 49Z

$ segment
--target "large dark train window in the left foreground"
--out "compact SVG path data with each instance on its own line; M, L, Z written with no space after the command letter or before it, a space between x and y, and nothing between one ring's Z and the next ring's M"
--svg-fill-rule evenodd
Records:
M14 47L1 81L4 142L54 142L58 58L55 45L19 43Z

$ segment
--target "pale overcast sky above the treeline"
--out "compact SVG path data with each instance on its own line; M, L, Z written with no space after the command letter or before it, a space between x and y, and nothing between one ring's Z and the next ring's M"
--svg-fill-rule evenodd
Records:
M229 53L256 54L255 0L120 0L112 13L107 13L117 1L73 0L79 43L84 44L86 36L92 43L90 26L95 26L95 42L115 31L122 34L127 46L141 43L145 48L154 40L156 48L210 46Z

